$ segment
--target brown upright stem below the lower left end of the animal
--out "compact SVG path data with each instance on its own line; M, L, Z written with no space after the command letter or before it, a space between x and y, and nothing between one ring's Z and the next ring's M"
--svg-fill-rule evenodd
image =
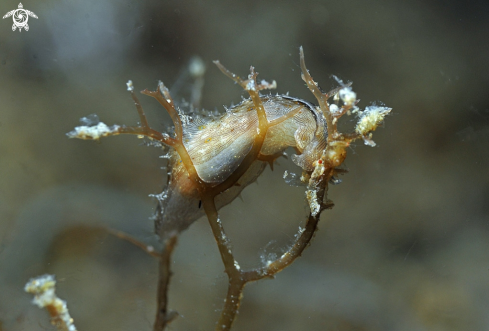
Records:
M170 270L171 254L177 243L177 236L170 237L165 242L165 248L160 254L158 265L158 290L156 301L156 318L153 330L163 331L167 324L171 322L177 313L168 311L168 288L172 272Z

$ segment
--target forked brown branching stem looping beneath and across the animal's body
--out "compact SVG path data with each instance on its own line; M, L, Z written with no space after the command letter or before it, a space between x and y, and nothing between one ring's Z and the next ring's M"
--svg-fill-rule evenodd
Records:
M226 76L241 85L241 87L243 87L249 93L251 99L253 100L253 104L255 106L258 116L258 129L252 148L248 152L244 160L240 163L238 168L224 182L212 188L205 187L203 190L200 191L202 204L209 220L209 224L212 228L214 238L217 242L225 271L229 278L228 293L226 295L224 308L221 312L216 330L230 330L236 318L236 314L241 303L242 291L246 283L257 281L265 277L272 277L276 273L282 271L287 266L289 266L299 256L301 256L304 249L309 245L311 239L314 237L314 234L317 230L317 224L320 219L321 211L324 210L326 207L322 205L318 213L313 215L313 213L311 212L309 214L305 228L298 236L294 245L287 252L282 254L282 256L279 257L277 260L270 261L265 267L256 270L243 271L240 269L238 262L234 259L229 240L224 233L224 228L222 227L221 221L219 220L219 215L214 202L214 198L221 192L235 185L236 182L241 178L241 176L249 169L251 164L255 160L259 159L260 151L265 141L268 129L271 126L292 117L299 110L294 112L293 115L289 114L289 116L284 116L283 118L279 118L272 122L269 122L266 116L265 108L263 107L263 103L259 95L259 90L261 89L261 86L256 84L257 74L255 73L253 67L251 67L251 74L249 75L249 79L243 81L237 75L227 70L222 64L219 63L219 61L215 61L214 63ZM330 130L330 132L336 132L336 127L333 126L333 117L329 112L329 107L326 101L327 94L323 94L319 90L317 84L312 80L312 77L309 75L309 72L305 67L304 53L302 52L302 48L301 68L303 70L304 77L309 89L314 93L320 103L321 109L323 110L323 113L326 117L328 129ZM250 88L250 86L252 88ZM332 173L333 172L331 169L325 171L324 175L320 176L320 178L318 178L318 180L315 182L315 185L317 185L317 199L320 202L324 200L325 192L328 185L327 183L331 178Z

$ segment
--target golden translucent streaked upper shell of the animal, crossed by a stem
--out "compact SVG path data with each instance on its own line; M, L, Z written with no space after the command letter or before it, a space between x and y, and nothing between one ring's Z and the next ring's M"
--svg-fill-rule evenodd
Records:
M296 114L272 126L261 149L262 155L275 155L287 147L302 152L314 139L318 129L315 108L302 100L287 96L262 98L269 121L295 111ZM325 130L325 128L322 128ZM253 145L258 130L258 116L251 100L230 109L208 122L195 121L184 127L183 142L199 177L207 183L221 183L232 174Z

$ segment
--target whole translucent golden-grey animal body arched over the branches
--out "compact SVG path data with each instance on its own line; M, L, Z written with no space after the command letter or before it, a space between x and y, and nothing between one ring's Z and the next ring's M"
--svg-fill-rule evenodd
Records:
M294 147L299 155L294 155L293 161L310 171L326 146L326 125L315 106L283 95L264 96L261 100L269 122L287 114L293 116L268 129L259 159L235 186L216 197L218 209L233 201L263 172L266 161L280 156L286 148ZM183 142L199 177L217 185L237 169L250 151L258 117L253 102L246 100L218 118L194 119L183 129ZM176 152L170 158L170 167L169 184L155 215L156 232L162 238L181 232L204 215L197 188Z

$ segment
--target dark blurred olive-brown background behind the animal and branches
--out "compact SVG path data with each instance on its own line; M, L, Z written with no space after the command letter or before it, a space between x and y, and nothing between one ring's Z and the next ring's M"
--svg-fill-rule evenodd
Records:
M0 14L18 6L4 0ZM168 86L194 55L202 105L244 93L213 65L250 65L314 102L299 46L324 89L353 81L364 108L392 107L358 142L336 206L302 258L245 289L235 330L489 329L489 4L486 1L26 1L28 32L0 21L0 330L49 329L25 282L56 274L79 330L151 330L157 262L97 226L156 242L149 216L161 151L130 136L69 140L78 120L137 121L125 83ZM182 95L181 97L185 97ZM150 122L170 121L141 96ZM348 123L350 119L346 119ZM352 123L349 123L350 126ZM348 124L347 124L348 126ZM307 210L282 159L222 211L242 267L293 241ZM212 330L227 278L207 221L174 255L170 330Z

